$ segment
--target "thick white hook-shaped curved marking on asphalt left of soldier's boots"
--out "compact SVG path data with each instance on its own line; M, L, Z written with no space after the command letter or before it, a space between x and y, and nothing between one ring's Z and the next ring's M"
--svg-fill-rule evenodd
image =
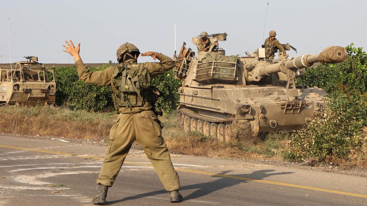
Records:
M46 173L46 174L37 174L37 175L21 175L15 177L14 180L24 184L35 184L35 185L43 185L43 184L52 184L43 181L37 181L37 178L45 178L52 177L56 175L62 174L84 174L84 173L97 173L97 171L77 171L77 172L61 172L61 173Z

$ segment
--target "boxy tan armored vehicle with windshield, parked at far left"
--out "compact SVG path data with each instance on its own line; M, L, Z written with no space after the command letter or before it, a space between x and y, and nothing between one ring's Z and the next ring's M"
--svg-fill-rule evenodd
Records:
M55 103L56 82L54 71L38 63L36 56L15 66L0 66L0 104Z

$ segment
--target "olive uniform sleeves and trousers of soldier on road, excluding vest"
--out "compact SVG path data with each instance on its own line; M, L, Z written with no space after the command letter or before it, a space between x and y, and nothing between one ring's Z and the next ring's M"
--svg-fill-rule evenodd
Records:
M175 61L160 54L158 62L146 62L145 68L150 77L164 73L175 66ZM126 63L134 64L134 61ZM112 86L113 72L116 67L109 67L103 71L89 71L81 60L76 62L79 78L96 86ZM113 88L116 91L116 88ZM132 143L137 140L143 147L156 170L164 188L167 191L178 190L179 177L173 168L170 153L161 136L160 124L157 116L152 111L150 102L145 102L138 107L119 107L119 117L116 124L110 130L109 145L105 160L102 163L101 172L97 184L112 186L121 166L126 158Z

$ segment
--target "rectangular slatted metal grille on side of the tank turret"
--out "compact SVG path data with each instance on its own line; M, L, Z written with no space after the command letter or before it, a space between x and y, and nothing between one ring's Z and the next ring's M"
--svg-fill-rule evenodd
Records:
M234 83L236 62L204 62L197 64L195 81L205 84Z

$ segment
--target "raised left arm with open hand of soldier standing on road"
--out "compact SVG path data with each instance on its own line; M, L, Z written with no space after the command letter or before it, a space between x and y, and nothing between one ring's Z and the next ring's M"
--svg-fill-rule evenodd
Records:
M65 41L65 43L68 46L62 45L65 47L63 49L64 52L69 53L74 57L76 69L78 71L78 75L80 80L88 83L93 84L96 86L109 86L111 85L111 78L113 74L113 68L109 67L102 71L89 71L89 69L84 65L83 61L80 58L79 52L80 52L80 43L78 44L78 47L75 47L73 44L73 41L70 40L70 44L68 41Z

